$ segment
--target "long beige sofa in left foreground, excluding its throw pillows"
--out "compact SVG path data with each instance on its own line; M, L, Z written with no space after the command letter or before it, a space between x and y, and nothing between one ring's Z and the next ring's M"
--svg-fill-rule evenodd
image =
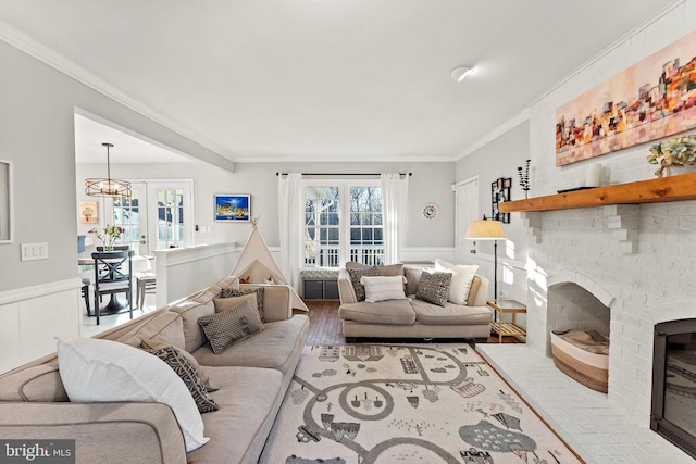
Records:
M196 358L219 390L219 411L201 414L210 441L186 452L173 411L163 403L72 403L55 356L0 376L0 437L75 439L77 463L257 463L299 362L309 318L293 315L287 286L264 286L264 330L213 354L197 319L213 298L239 286L228 277L100 338L137 344L165 341ZM254 286L241 286L254 287Z

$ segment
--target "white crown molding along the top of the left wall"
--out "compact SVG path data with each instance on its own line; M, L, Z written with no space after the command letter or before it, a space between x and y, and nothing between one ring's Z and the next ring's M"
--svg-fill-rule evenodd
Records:
M99 93L102 93L103 96L116 101L117 103L123 104L124 106L135 111L136 113L139 113L142 116L166 127L173 133L176 133L179 136L214 152L224 160L232 161L231 158L222 154L225 153L225 150L222 147L213 143L210 140L207 140L203 136L189 133L188 130L181 127L179 123L164 116L161 113L156 112L151 108L119 90L111 84L97 77L87 70L78 66L73 61L69 60L57 51L36 41L32 37L27 36L24 33L21 33L20 30L13 28L2 21L0 21L0 40L53 67L60 73L72 77L73 79L89 87L90 89L96 90Z

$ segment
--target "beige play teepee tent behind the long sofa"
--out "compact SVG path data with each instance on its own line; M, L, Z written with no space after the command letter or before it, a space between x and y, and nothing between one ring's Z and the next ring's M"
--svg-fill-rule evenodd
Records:
M237 263L229 275L237 276L239 280L249 284L269 284L269 281L272 280L273 284L289 285L290 290L293 290L293 308L309 311L273 259L269 246L265 244L261 233L257 228L258 221L258 217L251 220L249 239L247 240L247 244L244 246L241 253L239 253Z

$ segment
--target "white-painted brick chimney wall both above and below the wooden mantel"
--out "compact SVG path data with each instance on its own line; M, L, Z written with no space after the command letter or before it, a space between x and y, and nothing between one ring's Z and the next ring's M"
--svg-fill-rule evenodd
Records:
M556 166L556 110L693 32L695 15L696 0L671 4L532 103L530 197L581 185L587 170L597 163L601 164L601 185L655 177L655 166L645 159L651 143ZM672 173L691 171L694 168ZM527 233L527 343L550 355L549 330L572 328L568 324L573 323L599 324L593 321L601 314L596 308L594 315L568 319L571 312L562 302L574 299L577 288L587 290L609 313L609 400L647 426L654 326L696 317L696 201L515 216L512 221L523 221ZM574 293L562 294L564 287ZM562 308L554 305L558 301Z

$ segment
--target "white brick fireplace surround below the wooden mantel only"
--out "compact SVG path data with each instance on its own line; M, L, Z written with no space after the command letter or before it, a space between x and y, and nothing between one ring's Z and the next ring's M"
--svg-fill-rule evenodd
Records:
M696 202L526 213L525 222L527 343L548 354L549 330L601 328L608 313L609 399L648 424L654 326L696 317Z

